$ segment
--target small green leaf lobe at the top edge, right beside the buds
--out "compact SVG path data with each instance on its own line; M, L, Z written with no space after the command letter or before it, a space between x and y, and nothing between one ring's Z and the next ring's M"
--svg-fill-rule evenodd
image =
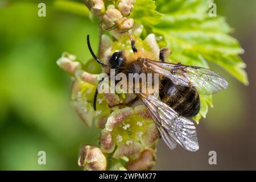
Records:
M131 18L134 18L135 22L142 23L144 26L158 24L163 14L160 14L155 9L155 1L137 0L131 13Z

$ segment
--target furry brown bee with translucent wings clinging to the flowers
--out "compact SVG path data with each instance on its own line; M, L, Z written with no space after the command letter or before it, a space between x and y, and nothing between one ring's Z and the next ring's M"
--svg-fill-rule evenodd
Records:
M148 113L158 127L160 136L167 146L174 149L180 144L188 151L199 150L195 124L187 117L195 116L200 110L200 94L210 95L228 87L228 82L218 73L207 68L192 65L166 63L170 49L162 48L159 61L152 60L150 53L141 52L131 40L133 53L114 52L107 63L102 63L93 53L87 36L88 48L94 59L102 65L104 72L110 75L110 69L116 73L158 73L159 97L149 93L136 93L129 104L138 100L146 106ZM104 77L105 78L105 77ZM101 82L99 82L98 87ZM94 94L94 110L98 89Z

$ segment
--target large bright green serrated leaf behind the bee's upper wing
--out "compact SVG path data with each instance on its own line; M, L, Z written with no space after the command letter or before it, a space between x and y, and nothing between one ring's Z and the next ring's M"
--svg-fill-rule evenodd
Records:
M238 56L243 53L238 41L230 36L232 28L221 16L210 17L208 0L159 0L156 10L164 14L147 33L163 36L172 49L170 61L209 68L208 61L224 68L237 80L248 85L246 67ZM164 45L162 42L161 45ZM212 97L200 95L201 109L193 119L206 117Z

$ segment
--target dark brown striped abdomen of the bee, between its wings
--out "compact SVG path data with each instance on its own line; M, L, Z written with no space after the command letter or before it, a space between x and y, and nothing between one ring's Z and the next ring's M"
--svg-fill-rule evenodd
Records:
M199 113L199 93L193 87L174 85L171 80L165 78L159 96L162 102L181 116L192 117Z

